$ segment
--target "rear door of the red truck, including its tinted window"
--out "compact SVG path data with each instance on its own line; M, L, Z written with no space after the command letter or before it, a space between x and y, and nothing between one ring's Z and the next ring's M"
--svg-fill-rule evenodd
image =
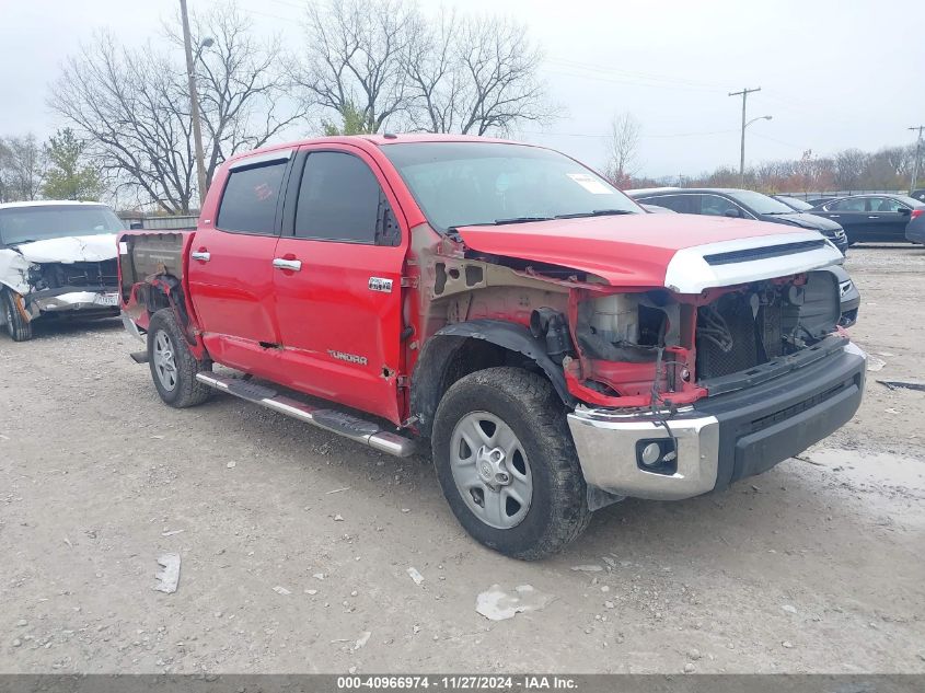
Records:
M267 347L279 342L273 258L279 240L280 194L291 150L233 163L215 219L193 238L189 291L211 357L269 376ZM221 185L221 181L217 181Z

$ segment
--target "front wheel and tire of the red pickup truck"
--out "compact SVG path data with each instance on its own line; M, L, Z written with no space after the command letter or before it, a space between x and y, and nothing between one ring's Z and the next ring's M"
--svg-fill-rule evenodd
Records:
M450 508L489 548L534 561L588 527L585 477L545 378L489 368L460 379L440 401L431 443Z

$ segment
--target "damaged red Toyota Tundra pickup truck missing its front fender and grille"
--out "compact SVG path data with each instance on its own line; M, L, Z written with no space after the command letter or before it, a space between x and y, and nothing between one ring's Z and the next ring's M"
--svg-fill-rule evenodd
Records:
M646 213L562 153L451 136L238 155L195 231L119 239L132 356L165 403L227 392L429 450L463 527L520 558L847 421L866 357L837 327L840 258L816 231Z

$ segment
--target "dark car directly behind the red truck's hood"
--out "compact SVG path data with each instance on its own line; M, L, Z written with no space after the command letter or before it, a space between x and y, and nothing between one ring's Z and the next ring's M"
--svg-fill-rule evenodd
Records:
M843 255L847 250L845 233L837 223L832 223L813 215L795 211L784 203L761 193L730 188L680 187L624 192L647 211L667 209L680 213L714 215L798 226L819 231L832 241ZM829 269L839 280L839 290L842 298L842 317L839 324L843 327L851 327L857 322L860 293L844 267L832 265Z

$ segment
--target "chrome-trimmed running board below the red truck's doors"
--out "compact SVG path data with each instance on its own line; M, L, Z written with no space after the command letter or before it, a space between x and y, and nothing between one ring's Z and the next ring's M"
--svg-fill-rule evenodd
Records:
M276 390L252 383L239 378L226 378L215 373L196 373L196 380L215 388L219 392L233 394L242 400L254 402L274 412L291 416L307 424L350 440L369 446L373 450L386 452L396 458L407 458L417 451L416 441L397 434L383 430L378 424L361 419L352 414L336 409L315 407L292 397L278 394Z

